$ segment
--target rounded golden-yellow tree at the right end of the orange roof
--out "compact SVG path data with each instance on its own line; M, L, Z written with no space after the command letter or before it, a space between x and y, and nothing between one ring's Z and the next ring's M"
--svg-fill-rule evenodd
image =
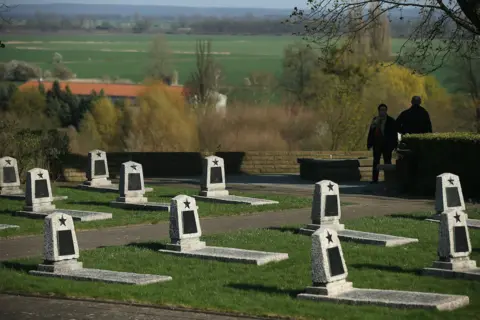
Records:
M196 119L180 93L153 82L137 104L126 141L129 151L198 150Z

